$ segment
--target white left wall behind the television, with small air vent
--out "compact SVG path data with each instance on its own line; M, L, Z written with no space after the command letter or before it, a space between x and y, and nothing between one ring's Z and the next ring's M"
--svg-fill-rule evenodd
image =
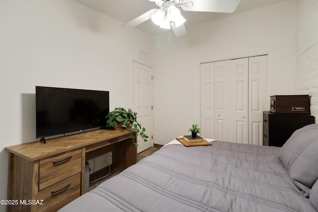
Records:
M122 24L73 0L0 0L0 199L4 147L35 141L36 85L108 90L111 109L131 107L131 63L152 65L152 37Z

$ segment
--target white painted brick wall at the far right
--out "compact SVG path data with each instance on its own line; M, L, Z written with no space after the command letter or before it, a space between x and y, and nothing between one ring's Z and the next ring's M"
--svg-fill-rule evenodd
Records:
M297 0L297 94L311 96L318 123L318 1Z

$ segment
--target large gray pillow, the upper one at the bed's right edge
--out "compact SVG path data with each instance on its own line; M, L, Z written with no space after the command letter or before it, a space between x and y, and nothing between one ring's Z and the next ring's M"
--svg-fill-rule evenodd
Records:
M318 179L318 124L295 131L280 149L279 158L300 190L312 188Z

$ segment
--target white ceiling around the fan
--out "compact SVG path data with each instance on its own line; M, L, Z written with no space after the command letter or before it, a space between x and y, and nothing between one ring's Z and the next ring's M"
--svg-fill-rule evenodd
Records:
M123 23L138 17L152 8L158 8L155 2L149 0L74 0L87 7L104 13ZM191 12L181 10L182 16L187 20L184 25L189 27L214 19L226 17L229 15L246 12L248 10L279 3L284 0L241 0L234 13L215 13L215 12ZM270 14L269 14L270 15ZM136 28L157 35L165 33L167 29L161 29L151 20L148 20Z

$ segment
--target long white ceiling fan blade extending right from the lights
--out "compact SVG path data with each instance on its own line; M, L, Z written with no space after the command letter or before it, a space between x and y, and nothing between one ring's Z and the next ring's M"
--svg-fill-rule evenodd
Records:
M181 8L186 11L232 13L239 2L240 0L183 0Z

